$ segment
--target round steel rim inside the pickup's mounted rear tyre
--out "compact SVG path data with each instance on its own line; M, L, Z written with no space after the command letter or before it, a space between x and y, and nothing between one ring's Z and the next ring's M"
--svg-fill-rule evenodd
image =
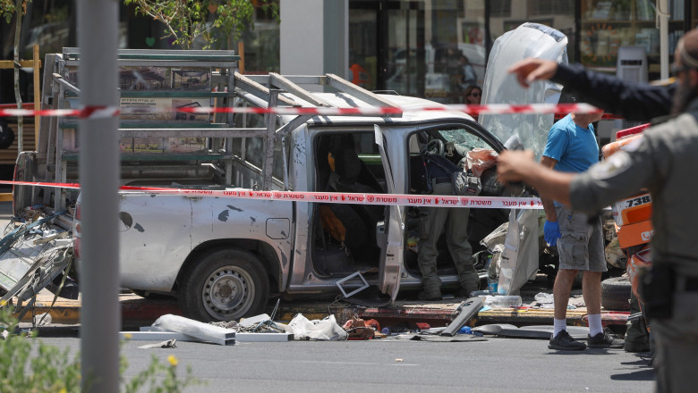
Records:
M244 270L234 266L218 268L209 275L202 290L206 310L213 316L242 316L254 299L252 282L251 275Z

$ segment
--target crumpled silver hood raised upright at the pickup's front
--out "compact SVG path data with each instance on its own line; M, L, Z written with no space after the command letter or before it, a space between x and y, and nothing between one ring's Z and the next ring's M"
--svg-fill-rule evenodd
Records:
M536 82L522 88L513 74L506 72L512 64L528 57L567 63L567 38L556 29L538 23L524 23L497 38L489 53L482 104L557 104L562 87L550 81ZM525 148L540 158L553 114L483 114L482 126L499 140L517 135Z

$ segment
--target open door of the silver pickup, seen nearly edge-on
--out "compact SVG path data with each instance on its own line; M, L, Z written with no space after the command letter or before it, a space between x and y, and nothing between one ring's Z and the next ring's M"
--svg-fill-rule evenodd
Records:
M383 169L386 173L387 192L390 194L400 193L404 189L404 179L401 176L394 176L390 165L389 155L396 152L387 152L384 140L386 138L383 130L379 126L374 126L376 135L376 145L379 146L380 156L383 159ZM393 146L394 144L387 144ZM395 144L396 146L402 146ZM399 184L396 183L399 182ZM379 289L381 292L390 295L390 299L395 301L397 292L400 289L400 276L403 268L404 255L404 206L389 205L386 209L386 222L384 227L386 233L385 244L379 244L380 266L379 266Z

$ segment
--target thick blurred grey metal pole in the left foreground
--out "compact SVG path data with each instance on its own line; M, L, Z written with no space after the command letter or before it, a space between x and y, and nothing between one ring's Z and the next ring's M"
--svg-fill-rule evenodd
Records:
M118 5L114 0L78 0L83 106L119 105ZM118 117L79 121L83 392L119 391L118 121Z

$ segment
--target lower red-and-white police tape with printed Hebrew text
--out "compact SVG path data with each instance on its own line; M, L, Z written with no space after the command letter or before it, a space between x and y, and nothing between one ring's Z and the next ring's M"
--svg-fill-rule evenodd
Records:
M49 188L79 189L77 183L47 183L34 181L6 181L0 184L13 186L35 186ZM261 199L269 201L315 202L323 204L348 205L400 205L416 207L474 207L484 209L542 209L539 198L531 197L455 197L417 194L363 194L344 192L307 192L307 191L256 191L253 189L189 189L189 188L153 188L121 186L119 192L124 195L169 195L185 197L223 197L240 199Z

